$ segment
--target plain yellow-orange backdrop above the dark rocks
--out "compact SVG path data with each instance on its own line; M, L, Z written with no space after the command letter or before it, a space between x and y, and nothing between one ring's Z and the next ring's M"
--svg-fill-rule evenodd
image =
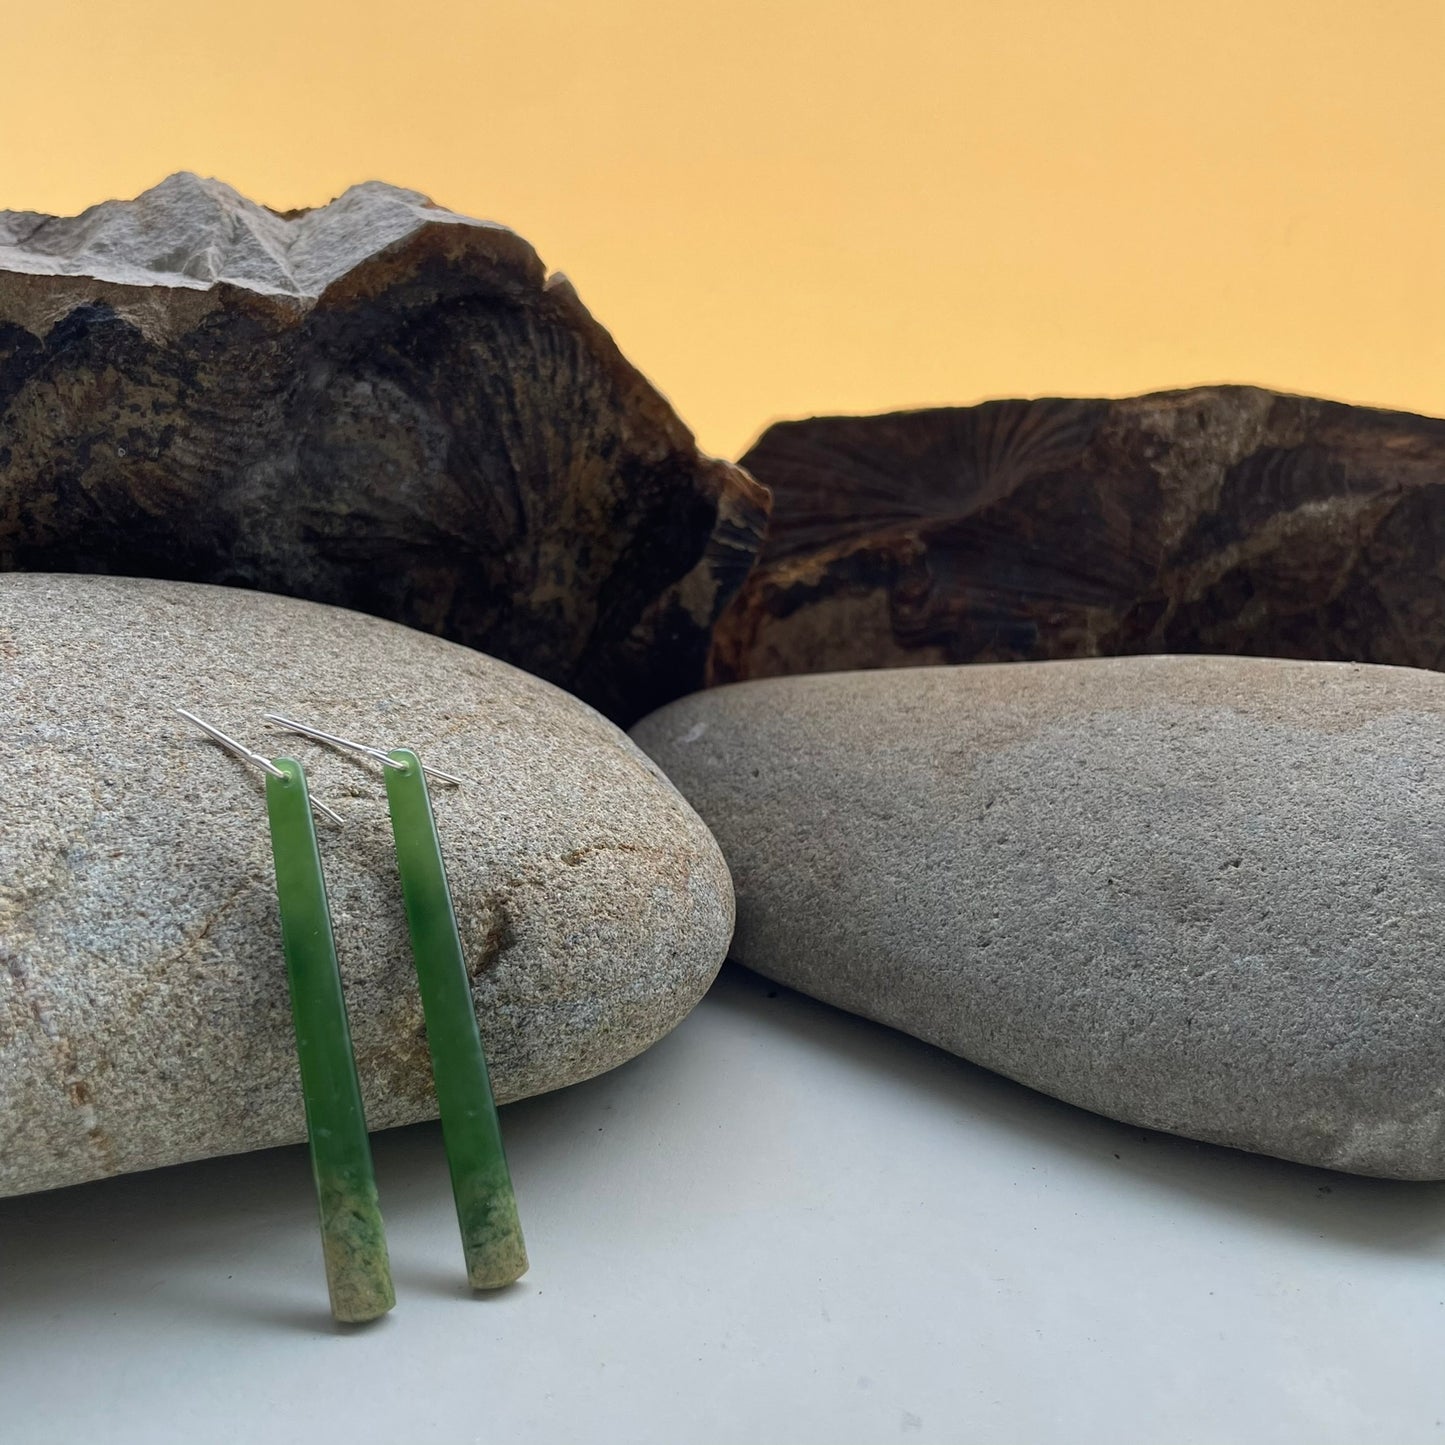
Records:
M704 447L1256 381L1445 412L1442 0L0 0L0 207L504 221Z

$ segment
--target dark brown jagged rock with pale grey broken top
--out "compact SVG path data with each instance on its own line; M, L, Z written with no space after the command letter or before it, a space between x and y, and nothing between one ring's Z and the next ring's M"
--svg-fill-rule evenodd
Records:
M412 191L0 212L0 569L351 607L626 722L701 685L766 506L525 240Z

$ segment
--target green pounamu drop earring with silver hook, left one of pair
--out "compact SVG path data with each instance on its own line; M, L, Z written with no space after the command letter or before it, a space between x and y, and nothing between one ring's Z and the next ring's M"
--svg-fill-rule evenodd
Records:
M262 757L194 712L176 711L266 775L280 938L296 1026L311 1169L321 1207L331 1314L351 1325L376 1319L396 1303L396 1292L311 809L338 827L341 819L311 798L306 775L295 759Z

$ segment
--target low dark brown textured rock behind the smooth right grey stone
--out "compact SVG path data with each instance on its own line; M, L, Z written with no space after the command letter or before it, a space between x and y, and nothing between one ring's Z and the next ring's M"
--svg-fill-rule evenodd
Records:
M1250 653L1445 668L1445 420L1254 387L770 428L709 678Z

